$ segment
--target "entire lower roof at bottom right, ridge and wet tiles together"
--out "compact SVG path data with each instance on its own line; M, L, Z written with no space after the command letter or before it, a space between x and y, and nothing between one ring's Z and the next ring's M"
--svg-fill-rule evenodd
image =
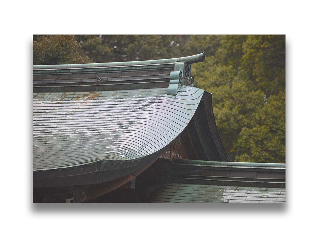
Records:
M285 202L285 164L174 160L149 202Z

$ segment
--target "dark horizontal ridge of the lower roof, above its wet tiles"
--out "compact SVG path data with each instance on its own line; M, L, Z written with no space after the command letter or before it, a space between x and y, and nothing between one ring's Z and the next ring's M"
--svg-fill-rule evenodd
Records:
M170 182L285 188L285 164L173 160Z

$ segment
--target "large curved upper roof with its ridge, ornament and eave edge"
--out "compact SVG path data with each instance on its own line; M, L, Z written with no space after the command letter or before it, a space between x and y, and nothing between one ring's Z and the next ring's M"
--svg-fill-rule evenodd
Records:
M193 87L191 76L191 63L204 58L201 53L33 66L34 186L114 180L158 158L187 127L200 102L211 104L211 94ZM211 105L206 107L212 111ZM207 117L204 109L200 113ZM219 140L215 122L210 124ZM220 140L215 150L218 158L228 159ZM67 183L70 176L73 180Z

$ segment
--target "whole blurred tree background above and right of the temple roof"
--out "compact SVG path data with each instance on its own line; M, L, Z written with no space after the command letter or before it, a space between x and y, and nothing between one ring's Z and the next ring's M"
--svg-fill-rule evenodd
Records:
M285 35L33 35L33 65L175 58L213 94L231 160L285 163Z

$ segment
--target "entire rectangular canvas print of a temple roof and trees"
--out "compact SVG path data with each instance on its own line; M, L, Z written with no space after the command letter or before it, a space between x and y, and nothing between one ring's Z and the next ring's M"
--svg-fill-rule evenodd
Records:
M33 35L33 202L284 203L285 35Z

